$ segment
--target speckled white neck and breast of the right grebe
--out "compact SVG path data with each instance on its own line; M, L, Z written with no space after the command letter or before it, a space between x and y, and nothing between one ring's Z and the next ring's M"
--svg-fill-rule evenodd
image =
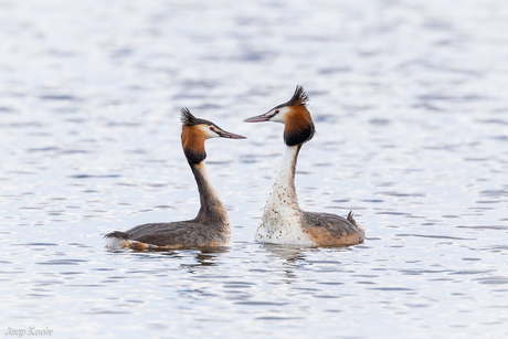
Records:
M301 145L287 146L263 212L256 241L314 245L301 227L303 212L295 189L296 159Z

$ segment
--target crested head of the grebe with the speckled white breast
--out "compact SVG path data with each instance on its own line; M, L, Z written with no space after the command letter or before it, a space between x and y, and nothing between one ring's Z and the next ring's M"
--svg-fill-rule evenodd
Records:
M295 146L310 140L315 128L310 113L307 109L308 96L304 87L296 86L293 97L284 104L275 106L265 114L245 119L245 123L274 121L285 125L284 142Z

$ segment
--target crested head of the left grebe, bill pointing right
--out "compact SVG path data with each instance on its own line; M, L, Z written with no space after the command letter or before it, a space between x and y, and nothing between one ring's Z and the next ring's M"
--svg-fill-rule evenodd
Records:
M204 140L210 138L245 139L245 137L223 130L212 121L194 117L189 108L181 109L182 147L187 160L199 163L207 158Z

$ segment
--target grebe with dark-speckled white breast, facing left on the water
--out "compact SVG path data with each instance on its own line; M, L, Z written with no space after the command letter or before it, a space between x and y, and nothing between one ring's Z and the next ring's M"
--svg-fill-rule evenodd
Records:
M304 87L296 86L289 102L244 120L285 125L286 149L255 239L267 243L304 246L357 245L363 241L366 233L354 221L352 212L343 219L329 213L304 212L298 205L295 189L296 159L304 142L310 140L315 133L313 118L306 106L307 100Z

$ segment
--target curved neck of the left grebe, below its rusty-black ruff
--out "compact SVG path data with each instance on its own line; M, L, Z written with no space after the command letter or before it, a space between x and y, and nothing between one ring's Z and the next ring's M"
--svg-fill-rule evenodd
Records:
M208 177L204 160L198 163L189 161L189 165L194 174L195 183L198 184L201 202L201 208L194 221L200 222L207 220L229 224L227 213Z

